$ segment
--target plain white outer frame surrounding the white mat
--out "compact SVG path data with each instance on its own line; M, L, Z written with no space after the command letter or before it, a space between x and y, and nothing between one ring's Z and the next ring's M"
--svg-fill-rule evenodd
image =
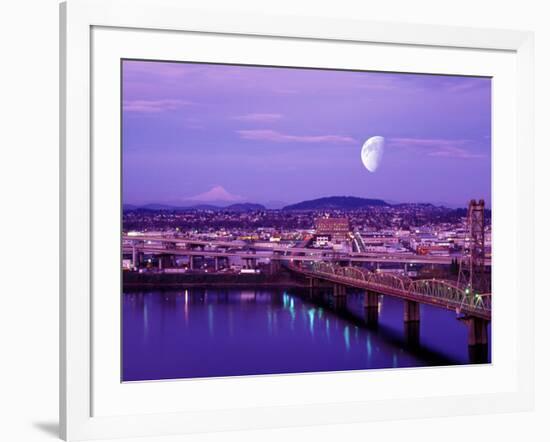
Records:
M247 15L189 10L176 0L68 0L61 4L61 154L60 154L60 428L66 440L152 436L233 429L300 426L324 423L351 423L367 420L448 416L451 414L528 410L533 404L533 35L530 32L453 28L433 25L376 23L356 20L319 19L275 15ZM407 397L342 400L336 395L327 401L303 399L292 404L246 406L227 403L205 411L185 411L170 406L160 412L137 413L123 409L94 412L94 384L102 384L95 372L94 327L102 316L94 310L92 276L93 194L93 99L92 55L94 29L127 29L132 32L173 31L209 36L266 36L295 41L323 41L406 46L418 49L481 50L505 52L514 57L515 139L514 170L510 178L514 222L509 234L517 265L511 270L521 280L521 302L513 310L513 361L507 362L515 382L491 391L431 396L411 392ZM464 73L464 72L460 72ZM521 149L521 155L519 152ZM502 164L502 163L497 163ZM495 166L496 167L496 166ZM501 166L498 166L501 167ZM504 170L504 166L503 170ZM509 170L512 170L509 169ZM508 169L507 169L508 170ZM96 171L97 172L97 171ZM497 171L498 172L498 171ZM502 175L498 174L497 175ZM500 250L504 250L501 248ZM508 272L510 277L511 273ZM514 286L515 287L515 286ZM513 288L512 288L513 290ZM516 293L517 294L517 293ZM100 304L101 305L101 304ZM101 318L103 319L103 318ZM114 324L113 324L114 327ZM113 361L118 364L118 361ZM433 369L432 375L437 375ZM395 372L394 372L395 373ZM340 376L343 382L356 382ZM380 373L381 377L391 376ZM293 375L285 376L292 382ZM269 378L269 377L267 377ZM266 377L263 377L266 379ZM295 381L298 378L294 379ZM298 379L304 383L304 378ZM333 379L336 379L334 377ZM507 378L509 379L509 378ZM236 381L227 381L229 383ZM260 382L260 381L255 381ZM314 385L320 378L310 377ZM178 383L164 383L156 400ZM183 384L178 385L178 388ZM188 384L189 385L189 384ZM211 384L213 385L213 384ZM229 385L229 387L227 387ZM232 388L227 384L224 388ZM235 384L236 385L236 384ZM235 388L233 385L233 388ZM218 387L215 387L218 388ZM239 388L240 384L239 384ZM254 388L243 385L244 389ZM426 389L429 387L426 385ZM489 389L490 390L490 389ZM196 389L193 391L197 391ZM215 391L215 389L213 390ZM230 390L227 390L230 391ZM329 395L330 396L330 395ZM96 400L97 402L97 400ZM170 403L167 401L167 403Z

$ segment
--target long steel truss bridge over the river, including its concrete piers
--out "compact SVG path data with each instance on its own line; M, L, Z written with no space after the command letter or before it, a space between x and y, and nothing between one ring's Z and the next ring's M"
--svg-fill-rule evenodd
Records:
M491 294L475 293L469 287L438 279L413 280L405 276L371 272L353 266L317 262L309 266L287 264L287 268L306 277L310 287L330 283L335 298L346 296L346 288L365 292L364 307L370 321L377 320L379 295L404 301L404 322L419 323L420 304L455 311L468 325L468 344L487 345L487 324L491 320Z

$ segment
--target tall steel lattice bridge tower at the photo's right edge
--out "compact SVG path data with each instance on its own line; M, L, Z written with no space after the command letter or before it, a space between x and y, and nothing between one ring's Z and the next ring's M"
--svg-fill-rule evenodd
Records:
M487 293L490 286L485 274L485 201L470 201L467 228L468 238L460 261L458 284L472 292Z

